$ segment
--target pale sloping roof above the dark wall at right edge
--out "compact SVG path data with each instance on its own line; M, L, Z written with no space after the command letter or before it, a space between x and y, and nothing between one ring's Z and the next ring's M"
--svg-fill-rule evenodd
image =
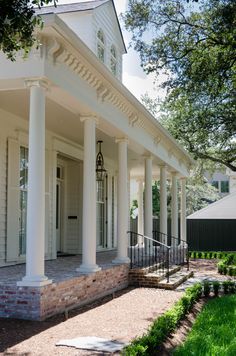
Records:
M196 211L187 219L236 219L236 192Z

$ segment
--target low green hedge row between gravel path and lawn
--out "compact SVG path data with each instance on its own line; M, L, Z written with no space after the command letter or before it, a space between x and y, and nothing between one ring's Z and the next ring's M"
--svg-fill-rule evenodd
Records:
M156 348L175 330L179 321L201 297L201 293L202 286L199 283L188 288L185 295L175 303L173 308L154 321L146 334L133 340L130 345L124 348L122 355L154 355Z

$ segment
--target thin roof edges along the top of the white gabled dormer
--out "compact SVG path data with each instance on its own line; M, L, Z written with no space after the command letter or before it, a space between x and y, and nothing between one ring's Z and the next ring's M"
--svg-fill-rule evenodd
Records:
M119 27L124 50L125 50L125 53L127 53L123 33L121 31L120 22L119 22L119 19L117 16L117 12L116 12L116 8L115 8L113 0L84 1L84 2L79 2L79 3L74 3L74 4L61 4L61 5L57 5L56 7L55 6L44 6L44 7L41 7L41 9L35 9L35 13L36 13L36 15L48 15L48 14L65 14L65 13L69 13L69 12L78 12L78 11L89 11L89 10L94 10L94 9L98 8L99 6L102 6L110 1L112 3L112 6L113 6L113 9L115 12L117 25Z

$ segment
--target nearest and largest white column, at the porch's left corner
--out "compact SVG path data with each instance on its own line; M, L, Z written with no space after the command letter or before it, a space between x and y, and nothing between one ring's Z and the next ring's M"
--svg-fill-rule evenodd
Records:
M27 199L26 275L18 286L40 287L52 283L44 275L45 251L45 90L42 80L30 87L29 166Z

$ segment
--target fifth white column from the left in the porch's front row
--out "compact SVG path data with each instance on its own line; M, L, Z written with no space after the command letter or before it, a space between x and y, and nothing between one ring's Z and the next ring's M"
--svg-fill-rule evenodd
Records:
M167 191L166 191L166 166L160 167L160 232L162 242L167 244Z

